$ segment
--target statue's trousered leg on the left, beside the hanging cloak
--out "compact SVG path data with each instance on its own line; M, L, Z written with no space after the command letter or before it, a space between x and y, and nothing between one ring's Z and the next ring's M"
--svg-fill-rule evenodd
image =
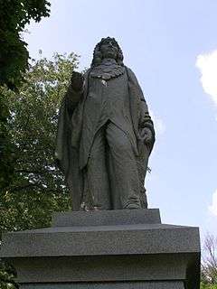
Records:
M94 137L87 164L87 177L92 204L95 210L110 210L109 179L106 167L105 128Z

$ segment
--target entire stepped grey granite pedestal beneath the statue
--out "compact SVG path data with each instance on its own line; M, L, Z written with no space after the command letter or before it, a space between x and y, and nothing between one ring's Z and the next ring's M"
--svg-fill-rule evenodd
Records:
M198 228L157 209L56 213L52 228L6 233L0 256L21 289L199 289Z

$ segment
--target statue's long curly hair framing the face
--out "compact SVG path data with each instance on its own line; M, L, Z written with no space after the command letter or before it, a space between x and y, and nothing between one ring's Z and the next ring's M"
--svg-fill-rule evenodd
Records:
M121 65L121 66L124 65L124 63L123 63L123 60L124 60L123 52L121 51L118 42L115 40L115 38L107 37L107 38L102 38L101 41L95 46L94 51L93 51L93 59L92 59L92 63L91 63L91 68L93 68L95 66L98 66L101 63L101 61L102 61L102 53L100 51L100 47L101 47L103 42L106 42L108 40L113 41L113 42L116 43L116 45L118 47L118 55L117 55L116 61L117 61L117 63L119 65Z

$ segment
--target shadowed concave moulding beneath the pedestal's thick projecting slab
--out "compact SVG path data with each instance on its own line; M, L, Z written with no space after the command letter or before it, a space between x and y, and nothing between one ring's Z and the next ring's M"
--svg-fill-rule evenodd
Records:
M19 282L184 280L194 254L15 258Z

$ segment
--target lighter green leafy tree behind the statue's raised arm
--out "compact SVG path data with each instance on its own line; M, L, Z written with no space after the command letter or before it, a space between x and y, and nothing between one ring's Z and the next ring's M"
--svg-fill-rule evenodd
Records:
M2 231L49 226L53 210L70 208L54 148L58 108L77 65L74 53L42 58L25 74L19 93L7 91L14 175L0 194Z

